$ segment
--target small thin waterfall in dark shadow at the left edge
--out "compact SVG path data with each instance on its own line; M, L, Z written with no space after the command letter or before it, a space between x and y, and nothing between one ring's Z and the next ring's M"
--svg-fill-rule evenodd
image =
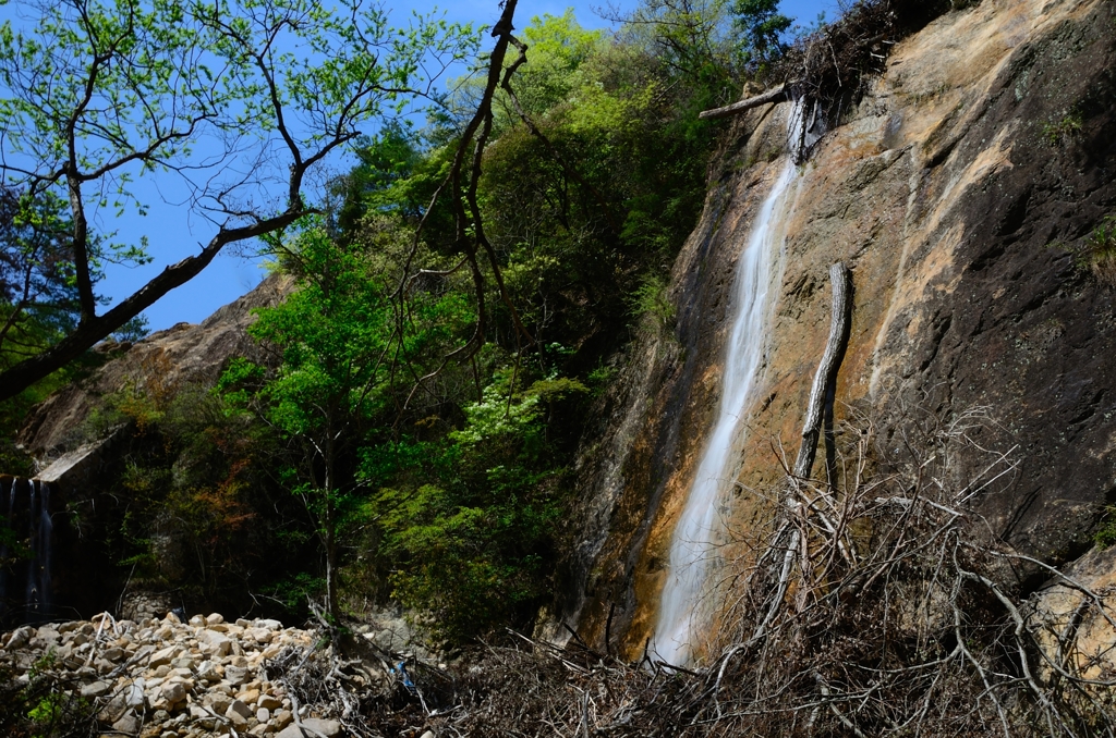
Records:
M22 491L26 497L20 494ZM9 557L13 561L0 567L0 616L20 622L41 620L51 614L54 604L50 566L55 535L50 485L12 478L7 492L4 495L0 487L0 517L13 545L8 545L7 540L0 545L0 561ZM21 544L22 531L27 532L26 546Z

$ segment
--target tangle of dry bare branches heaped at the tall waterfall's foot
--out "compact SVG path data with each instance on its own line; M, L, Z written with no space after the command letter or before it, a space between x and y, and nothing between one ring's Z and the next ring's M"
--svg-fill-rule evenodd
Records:
M1116 598L975 513L1017 467L987 408L896 405L888 433L849 410L829 480L788 473L763 492L768 521L735 533L721 569L704 666L518 635L448 670L408 661L414 691L381 670L349 708L355 735L1113 736L1110 654L1077 633L1116 642ZM1077 596L1060 616L1049 589L1022 590L1036 567Z

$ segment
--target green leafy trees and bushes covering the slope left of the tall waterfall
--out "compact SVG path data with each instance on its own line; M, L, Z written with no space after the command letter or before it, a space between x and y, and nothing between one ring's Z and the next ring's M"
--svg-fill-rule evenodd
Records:
M275 9L286 10L270 21L252 18L276 31L356 32L314 9ZM64 4L45 17L77 49L100 31L67 14L73 10ZM305 16L305 26L290 13ZM152 18L133 29L141 47L171 32ZM187 56L232 42L206 18L186 20L167 42ZM731 33L734 23L745 41ZM102 489L124 501L119 508L75 512L83 530L110 531L97 555L121 565L131 586L170 589L183 601L300 608L302 593L321 588L334 614L395 600L429 613L451 639L526 625L560 586L574 494L568 469L587 402L642 313L651 313L651 330L671 330L665 275L702 207L716 135L696 113L733 99L742 75L781 50L788 23L767 1L648 2L615 37L581 28L571 12L543 16L523 29L526 50L500 41L512 49L501 64L507 84L463 81L424 127L401 117L354 139L355 119L345 117L336 135L311 142L318 150L352 140L358 164L316 207L292 188L287 211L258 213L268 227L249 229L298 284L251 329L267 359L233 362L213 391L163 387L151 367L151 377L105 398L85 425L87 437L121 423L133 428L117 476ZM355 91L337 81L329 100L344 107L343 98L356 96L362 115L386 110L391 100L377 96L411 89L404 60L413 45L456 54L472 38L468 29L423 29L392 47L398 79L376 78ZM3 110L16 116L37 94L20 75L38 47L6 33L23 55L4 78L19 95ZM282 138L281 120L264 125L279 111L266 93L280 60L251 61L244 74L262 75L261 86L241 80L232 93ZM280 97L282 105L312 107L306 95L333 89L318 77L353 71L299 69L288 81L302 87ZM189 70L164 71L165 80L121 84L161 85L174 99L196 93ZM97 81L110 89L113 79ZM252 107L256 93L264 99ZM154 130L158 114L127 125ZM112 133L50 133L39 117L20 129L28 150L48 150L48 133L86 143ZM196 123L210 124L205 116ZM140 159L174 169L190 135L166 130ZM471 169L474 147L482 155ZM112 146L97 150L98 166L126 156ZM296 164L312 158L297 140L283 150ZM98 259L145 258L109 253L115 246L89 230L74 235L85 213L51 187L99 172L79 164L59 168L56 179L6 169L4 192L19 205L4 239L12 256L6 314L41 334L26 356L0 346L12 367L55 353L73 342L67 336L100 320L87 304ZM299 166L291 176L301 176ZM127 206L127 177L112 183ZM54 215L32 219L35 208ZM36 261L32 246L47 258ZM81 254L94 268L88 280L77 273ZM20 274L39 294L18 299ZM9 427L27 404L6 406ZM232 545L244 535L250 552ZM307 555L319 545L320 555Z

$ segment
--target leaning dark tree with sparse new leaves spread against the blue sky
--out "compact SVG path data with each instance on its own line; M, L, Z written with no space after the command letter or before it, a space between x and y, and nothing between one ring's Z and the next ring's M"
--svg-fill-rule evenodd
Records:
M424 69L462 58L469 27L416 17L398 30L348 0L27 1L0 25L0 185L67 204L77 324L0 372L0 399L65 366L237 243L315 212L306 179L360 126L427 91ZM95 224L185 192L213 235L99 313L98 254L147 260ZM262 194L262 196L260 196ZM61 219L60 219L61 220ZM99 245L98 245L99 244ZM156 249L157 246L152 246Z

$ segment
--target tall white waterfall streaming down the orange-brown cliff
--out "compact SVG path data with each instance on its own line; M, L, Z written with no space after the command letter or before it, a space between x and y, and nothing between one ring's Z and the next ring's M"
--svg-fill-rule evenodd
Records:
M817 117L815 111L815 118ZM782 250L788 193L798 179L799 146L817 140L816 124L805 124L804 104L796 101L789 117L787 157L778 178L760 206L748 244L740 255L733 284L732 330L721 379L716 423L705 441L693 486L671 540L667 579L663 585L654 652L667 663L690 661L691 641L699 622L714 540L721 530L719 508L735 478L740 457L741 420L748 407L767 342L768 284L772 254ZM807 130L804 132L804 128Z

